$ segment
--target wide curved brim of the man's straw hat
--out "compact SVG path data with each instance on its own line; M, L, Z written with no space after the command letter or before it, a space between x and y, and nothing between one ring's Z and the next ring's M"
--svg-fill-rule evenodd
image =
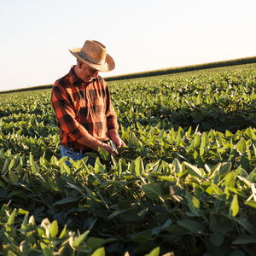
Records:
M102 71L102 72L109 72L111 70L114 69L115 67L115 64L114 64L114 61L113 61L113 58L110 56L110 55L106 55L106 59L105 59L105 63L102 64L102 65L98 65L98 64L95 64L91 61L88 61L86 59L84 59L81 55L80 55L80 50L81 48L79 47L73 47L73 48L70 48L69 51L77 58L79 59L79 61L82 61L84 62L85 64L89 65L90 67L93 67L95 68L96 70L98 71Z

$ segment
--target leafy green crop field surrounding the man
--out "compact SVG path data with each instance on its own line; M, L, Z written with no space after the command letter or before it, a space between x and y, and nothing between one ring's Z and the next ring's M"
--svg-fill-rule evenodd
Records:
M256 64L109 81L118 156L68 167L50 89L0 95L0 255L254 255Z

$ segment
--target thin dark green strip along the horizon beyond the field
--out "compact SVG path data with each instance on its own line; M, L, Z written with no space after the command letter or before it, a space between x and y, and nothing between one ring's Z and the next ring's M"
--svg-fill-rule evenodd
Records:
M198 64L198 65L184 66L184 67L170 67L170 68L157 69L157 70L140 72L140 73L127 73L124 75L107 77L104 79L106 81L114 81L114 80L122 80L122 79L137 79L137 78L154 77L154 76L160 76L160 75L172 74L172 73L195 71L195 70L214 68L214 67L229 67L229 66L236 66L236 65L250 64L250 63L256 63L256 56L241 58L241 59L234 59L230 61L209 62L209 63ZM26 90L44 90L44 89L52 88L52 86L53 84L46 84L46 85L32 86L32 87L16 89L16 90L4 90L4 91L0 91L0 94L17 92L17 91L26 91Z

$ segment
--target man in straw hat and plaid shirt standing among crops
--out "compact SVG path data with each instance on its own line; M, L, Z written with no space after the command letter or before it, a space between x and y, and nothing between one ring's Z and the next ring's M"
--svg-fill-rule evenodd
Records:
M116 155L117 151L106 143L108 139L117 148L125 143L118 134L119 125L108 84L98 75L113 70L114 61L106 47L94 40L87 40L83 48L69 51L77 58L77 65L55 81L51 96L60 129L61 157L80 160L87 152L98 151L99 147Z

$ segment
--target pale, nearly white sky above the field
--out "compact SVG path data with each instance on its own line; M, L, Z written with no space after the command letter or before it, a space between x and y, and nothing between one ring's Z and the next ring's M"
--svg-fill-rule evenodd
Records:
M255 0L0 0L0 90L54 84L104 44L109 77L256 55Z

